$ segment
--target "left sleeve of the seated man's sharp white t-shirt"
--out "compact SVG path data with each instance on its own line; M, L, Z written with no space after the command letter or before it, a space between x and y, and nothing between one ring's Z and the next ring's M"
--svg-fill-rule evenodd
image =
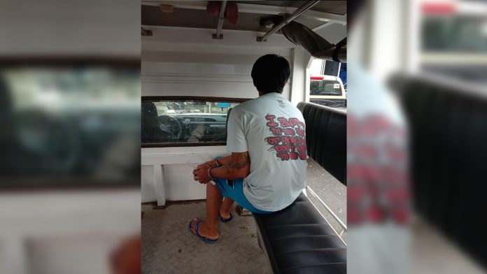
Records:
M230 152L248 151L244 114L238 109L233 109L228 118L227 148Z

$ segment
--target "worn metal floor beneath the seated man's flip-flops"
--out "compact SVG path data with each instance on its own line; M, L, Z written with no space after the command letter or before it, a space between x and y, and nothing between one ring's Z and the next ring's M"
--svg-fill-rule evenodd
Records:
M188 230L194 217L206 217L205 201L143 204L142 273L271 273L257 245L252 216L232 210L232 222L220 223L218 243L209 245Z

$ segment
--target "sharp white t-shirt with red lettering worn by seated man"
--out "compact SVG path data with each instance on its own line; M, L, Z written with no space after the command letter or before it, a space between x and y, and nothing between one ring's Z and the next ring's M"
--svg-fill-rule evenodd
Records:
M306 187L306 127L302 113L272 92L236 106L227 127L230 152L250 154L244 195L255 208L277 211Z

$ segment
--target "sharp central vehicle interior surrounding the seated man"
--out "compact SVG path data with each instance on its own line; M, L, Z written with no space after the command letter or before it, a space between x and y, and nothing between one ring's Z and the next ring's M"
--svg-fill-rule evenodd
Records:
M309 69L346 62L346 1L209 2L142 1L142 271L345 273L346 111L309 103ZM228 154L227 117L257 97L250 71L267 53L291 65L283 96L309 125L308 187L271 215L237 206L211 247L188 231L206 197L192 169Z

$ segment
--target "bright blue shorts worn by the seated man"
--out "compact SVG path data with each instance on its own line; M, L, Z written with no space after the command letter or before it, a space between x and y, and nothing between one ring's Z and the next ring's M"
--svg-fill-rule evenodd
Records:
M215 159L220 159L221 157L216 157ZM257 213L257 214L269 214L273 211L264 211L255 208L252 204L247 200L247 197L244 195L244 179L234 179L233 182L227 179L220 179L214 178L213 182L215 182L215 186L220 190L220 193L224 197L228 197L238 203L240 206L246 208L250 212Z

